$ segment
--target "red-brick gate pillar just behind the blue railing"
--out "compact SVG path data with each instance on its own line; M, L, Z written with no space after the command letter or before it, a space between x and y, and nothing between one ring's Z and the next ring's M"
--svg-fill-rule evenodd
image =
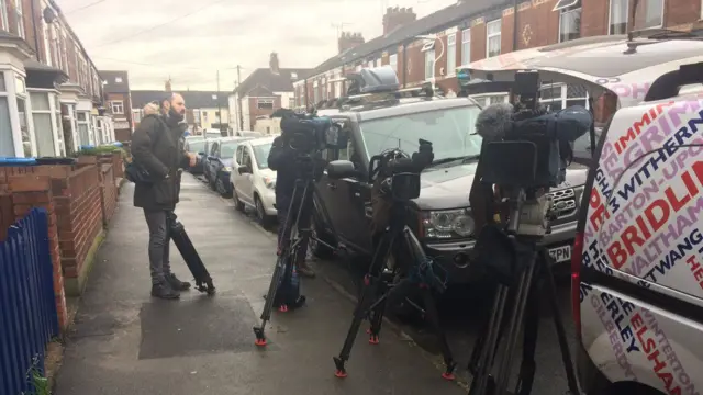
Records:
M64 290L64 274L60 264L58 235L56 230L56 214L52 199L49 176L20 174L7 178L12 191L13 212L18 218L23 217L33 207L44 207L48 214L48 242L52 257L52 273L54 279L54 297L58 314L60 330L68 326L68 309L66 308L66 293Z

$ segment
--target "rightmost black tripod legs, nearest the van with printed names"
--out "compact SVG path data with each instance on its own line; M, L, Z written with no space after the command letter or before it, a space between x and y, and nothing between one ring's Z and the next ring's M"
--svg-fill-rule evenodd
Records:
M489 323L483 334L477 339L471 354L469 371L473 375L473 381L471 382L469 395L507 394L507 379L512 366L517 334L522 325L524 325L523 356L514 394L531 394L536 370L535 351L539 329L539 294L535 285L537 285L536 283L540 276L546 280L549 292L549 305L557 329L557 338L567 374L569 392L572 395L577 395L579 394L579 390L576 372L571 362L566 330L563 329L563 323L559 315L557 304L556 285L551 272L553 260L546 248L538 246L538 238L517 235L510 240L514 246L515 261L513 263L515 263L515 266L513 268L516 270L514 270L513 273L518 274L518 276L514 274L506 278L504 276L498 284ZM514 306L511 312L507 328L505 328L503 314L509 294L513 294ZM501 335L503 335L504 329L507 329L504 350L501 356L498 373L495 377L493 377L490 370L493 366L498 353L499 339Z

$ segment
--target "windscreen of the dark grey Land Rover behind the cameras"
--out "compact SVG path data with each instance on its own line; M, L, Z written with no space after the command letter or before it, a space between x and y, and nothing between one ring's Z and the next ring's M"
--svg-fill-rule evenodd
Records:
M478 160L481 137L472 135L478 106L439 109L364 121L359 124L369 157L387 149L417 150L417 139L432 142L435 162L453 158Z

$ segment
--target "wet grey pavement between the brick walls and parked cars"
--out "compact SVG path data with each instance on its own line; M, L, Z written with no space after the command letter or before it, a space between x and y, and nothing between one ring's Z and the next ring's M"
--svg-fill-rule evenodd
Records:
M132 206L132 193L133 184L125 184L68 334L56 395L466 393L460 383L440 379L436 358L402 331L383 331L379 346L360 334L349 376L335 377L332 357L354 304L323 273L303 282L308 306L275 313L269 345L256 347L252 327L268 289L275 236L190 174L183 174L176 214L217 294L193 290L180 301L152 298L146 224ZM171 251L175 272L189 279L178 251Z

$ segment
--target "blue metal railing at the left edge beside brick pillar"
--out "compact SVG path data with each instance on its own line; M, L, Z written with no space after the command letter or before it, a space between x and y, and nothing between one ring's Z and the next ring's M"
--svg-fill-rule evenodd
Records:
M33 208L0 241L0 394L32 392L47 342L58 335L48 217ZM35 361L40 361L35 366Z

